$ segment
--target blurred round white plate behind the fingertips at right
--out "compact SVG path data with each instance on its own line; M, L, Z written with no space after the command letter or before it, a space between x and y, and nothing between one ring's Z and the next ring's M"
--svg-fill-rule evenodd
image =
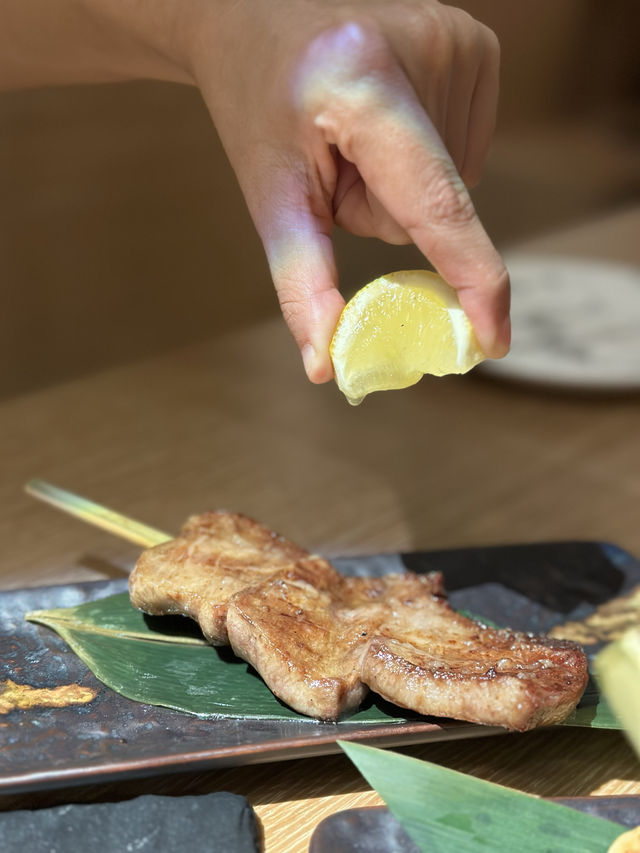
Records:
M640 239L640 237L639 237ZM640 269L512 255L512 347L496 378L584 390L640 390Z

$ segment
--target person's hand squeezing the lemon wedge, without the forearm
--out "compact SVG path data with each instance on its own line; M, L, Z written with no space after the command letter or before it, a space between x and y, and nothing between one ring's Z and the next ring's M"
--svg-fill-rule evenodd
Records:
M328 346L344 304L334 224L413 241L458 290L484 352L504 355L508 275L466 189L495 122L493 33L435 0L207 8L192 73L309 378L332 376Z

